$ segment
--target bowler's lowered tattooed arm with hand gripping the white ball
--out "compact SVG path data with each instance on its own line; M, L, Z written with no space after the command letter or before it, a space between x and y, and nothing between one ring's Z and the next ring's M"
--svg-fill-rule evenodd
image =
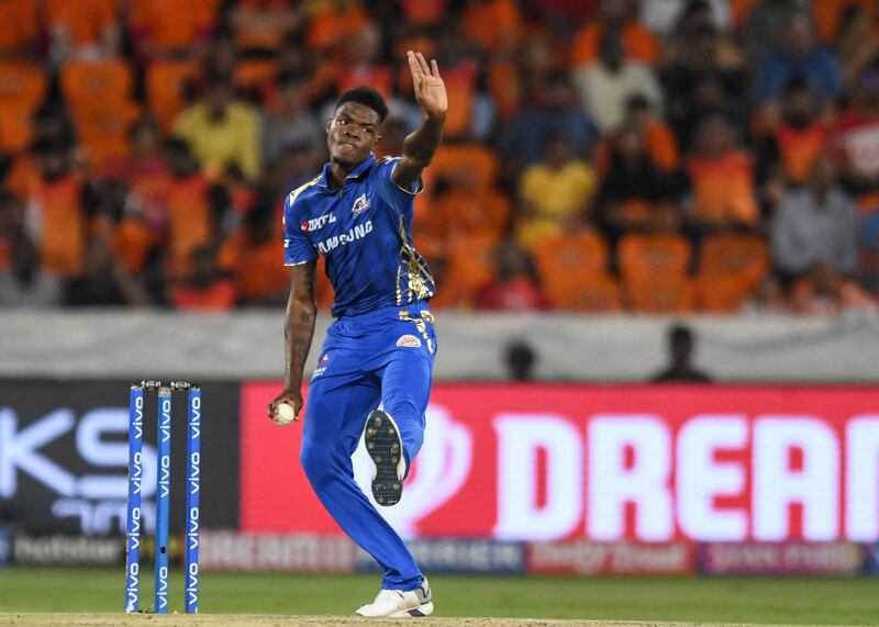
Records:
M283 325L286 346L283 391L268 406L274 417L279 403L292 405L296 418L302 408L302 370L314 335L318 305L314 302L314 275L316 261L305 261L291 267L290 299L287 301L287 321Z

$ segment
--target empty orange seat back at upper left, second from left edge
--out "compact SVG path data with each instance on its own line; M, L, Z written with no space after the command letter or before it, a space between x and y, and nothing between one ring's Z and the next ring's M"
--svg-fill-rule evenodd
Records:
M121 60L69 61L60 72L64 97L77 111L105 111L131 96L131 68Z

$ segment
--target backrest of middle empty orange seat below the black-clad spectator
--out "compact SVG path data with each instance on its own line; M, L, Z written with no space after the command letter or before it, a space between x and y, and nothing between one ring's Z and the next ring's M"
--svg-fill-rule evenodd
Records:
M620 239L616 257L627 281L650 281L685 277L691 253L690 244L680 235L630 234Z

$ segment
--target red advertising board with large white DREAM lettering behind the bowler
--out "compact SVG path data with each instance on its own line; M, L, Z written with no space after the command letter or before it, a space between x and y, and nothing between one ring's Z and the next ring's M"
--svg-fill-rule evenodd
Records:
M341 534L242 389L241 529ZM360 448L355 477L369 494ZM879 390L437 384L403 499L408 538L669 542L879 537Z

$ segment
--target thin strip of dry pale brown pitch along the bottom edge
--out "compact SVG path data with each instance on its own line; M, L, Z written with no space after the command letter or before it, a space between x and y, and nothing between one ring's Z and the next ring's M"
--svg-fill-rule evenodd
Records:
M198 616L142 614L0 614L0 625L16 627L316 627L320 625L408 625L409 627L748 627L736 623L656 623L623 620L545 620L536 618L370 619L347 616L257 616L202 614ZM781 627L775 625L772 627ZM802 626L799 626L802 627Z

